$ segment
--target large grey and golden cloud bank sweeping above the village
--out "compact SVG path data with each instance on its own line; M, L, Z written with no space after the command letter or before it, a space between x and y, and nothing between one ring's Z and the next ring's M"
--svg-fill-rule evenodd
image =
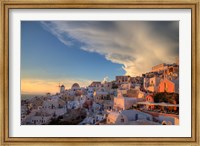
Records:
M136 76L179 54L178 21L51 21L42 26L65 45L103 55Z

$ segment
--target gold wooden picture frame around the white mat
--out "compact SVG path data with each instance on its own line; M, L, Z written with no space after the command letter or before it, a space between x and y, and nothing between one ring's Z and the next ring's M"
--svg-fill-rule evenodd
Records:
M200 145L199 142L199 0L1 0L1 49L0 49L0 121L2 145ZM189 138L20 138L9 137L8 119L8 15L12 8L160 8L192 10L192 137Z

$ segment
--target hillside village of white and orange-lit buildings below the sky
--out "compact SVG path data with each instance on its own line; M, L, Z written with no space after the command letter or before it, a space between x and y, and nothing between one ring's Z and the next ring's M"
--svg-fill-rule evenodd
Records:
M21 100L22 125L178 125L179 64Z

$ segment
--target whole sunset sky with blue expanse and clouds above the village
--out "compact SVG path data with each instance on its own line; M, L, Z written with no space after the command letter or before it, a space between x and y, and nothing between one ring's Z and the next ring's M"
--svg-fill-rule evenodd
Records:
M178 56L178 21L22 21L21 92L138 76Z

